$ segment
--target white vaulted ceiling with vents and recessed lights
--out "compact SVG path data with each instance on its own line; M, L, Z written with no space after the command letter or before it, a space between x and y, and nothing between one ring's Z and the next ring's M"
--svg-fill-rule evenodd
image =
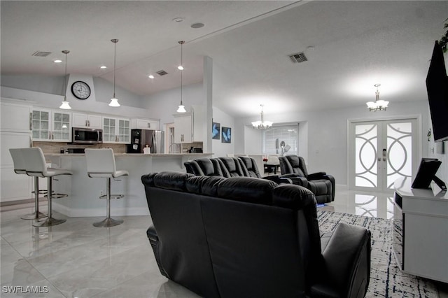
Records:
M426 99L447 13L448 1L1 1L1 73L62 76L52 61L70 50L69 73L113 81L118 38L116 84L145 96L179 87L185 40L184 85L202 81L211 57L214 106L235 117L260 104L266 115L365 105L376 83L392 106ZM293 64L302 51L309 61Z

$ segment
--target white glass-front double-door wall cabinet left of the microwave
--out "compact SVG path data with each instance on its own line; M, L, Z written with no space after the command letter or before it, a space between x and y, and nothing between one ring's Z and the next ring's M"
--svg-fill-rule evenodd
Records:
M34 108L31 113L33 141L71 141L71 113Z

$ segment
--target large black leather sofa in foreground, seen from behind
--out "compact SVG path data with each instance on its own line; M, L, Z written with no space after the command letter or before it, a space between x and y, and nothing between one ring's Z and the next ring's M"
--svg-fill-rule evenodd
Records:
M321 238L306 188L178 172L141 180L160 272L198 295L365 296L370 232L340 223Z

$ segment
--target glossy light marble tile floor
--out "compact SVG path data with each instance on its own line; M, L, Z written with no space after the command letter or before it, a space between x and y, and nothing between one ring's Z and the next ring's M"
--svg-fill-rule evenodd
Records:
M320 208L390 219L392 197L340 191L334 202ZM45 207L41 203L41 211ZM0 297L198 297L160 274L146 238L149 216L120 217L124 223L110 228L92 226L102 218L67 218L62 225L33 227L33 220L20 219L33 208L1 207ZM14 289L22 293L8 292ZM447 290L440 285L441 298L448 297Z

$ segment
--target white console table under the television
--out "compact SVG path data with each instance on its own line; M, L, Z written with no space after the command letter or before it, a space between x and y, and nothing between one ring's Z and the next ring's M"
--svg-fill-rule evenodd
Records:
M402 271L448 283L448 194L395 181L393 250Z

